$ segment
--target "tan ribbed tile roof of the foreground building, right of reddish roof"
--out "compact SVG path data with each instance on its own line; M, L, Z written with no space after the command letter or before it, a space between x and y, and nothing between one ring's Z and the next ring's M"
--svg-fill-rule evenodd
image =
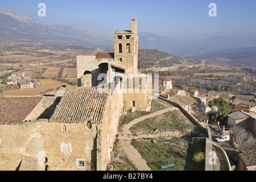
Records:
M108 89L71 88L67 89L59 105L57 105L49 122L87 122L100 123Z

